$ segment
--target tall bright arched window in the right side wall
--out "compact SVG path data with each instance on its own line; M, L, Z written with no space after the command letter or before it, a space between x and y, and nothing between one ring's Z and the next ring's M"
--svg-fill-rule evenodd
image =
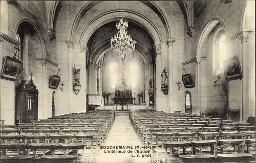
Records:
M223 61L227 59L228 56L228 45L227 38L223 28L220 28L216 31L214 35L214 45L213 45L213 68L214 75L224 73Z

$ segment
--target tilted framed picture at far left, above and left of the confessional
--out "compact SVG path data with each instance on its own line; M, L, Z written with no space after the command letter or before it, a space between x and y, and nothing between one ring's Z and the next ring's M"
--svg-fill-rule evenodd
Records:
M16 81L22 62L18 59L6 56L1 69L1 78Z

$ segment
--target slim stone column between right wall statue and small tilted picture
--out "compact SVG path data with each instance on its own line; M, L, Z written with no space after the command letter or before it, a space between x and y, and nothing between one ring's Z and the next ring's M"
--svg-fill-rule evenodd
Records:
M167 47L168 47L168 109L169 112L174 112L173 108L173 43L175 39L168 39L167 40Z

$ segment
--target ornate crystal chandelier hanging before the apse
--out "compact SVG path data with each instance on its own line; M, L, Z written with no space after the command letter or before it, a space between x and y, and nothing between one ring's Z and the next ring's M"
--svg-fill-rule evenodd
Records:
M136 41L131 38L131 35L127 35L127 21L123 21L121 18L117 23L116 28L118 29L118 33L114 38L111 37L111 50L117 52L120 57L124 57L125 52L134 51Z

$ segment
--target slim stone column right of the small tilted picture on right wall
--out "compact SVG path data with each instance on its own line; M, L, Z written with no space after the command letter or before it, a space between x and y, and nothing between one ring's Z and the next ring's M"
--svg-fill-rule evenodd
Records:
M197 114L200 114L202 111L201 108L201 58L196 57L196 63L197 63Z

